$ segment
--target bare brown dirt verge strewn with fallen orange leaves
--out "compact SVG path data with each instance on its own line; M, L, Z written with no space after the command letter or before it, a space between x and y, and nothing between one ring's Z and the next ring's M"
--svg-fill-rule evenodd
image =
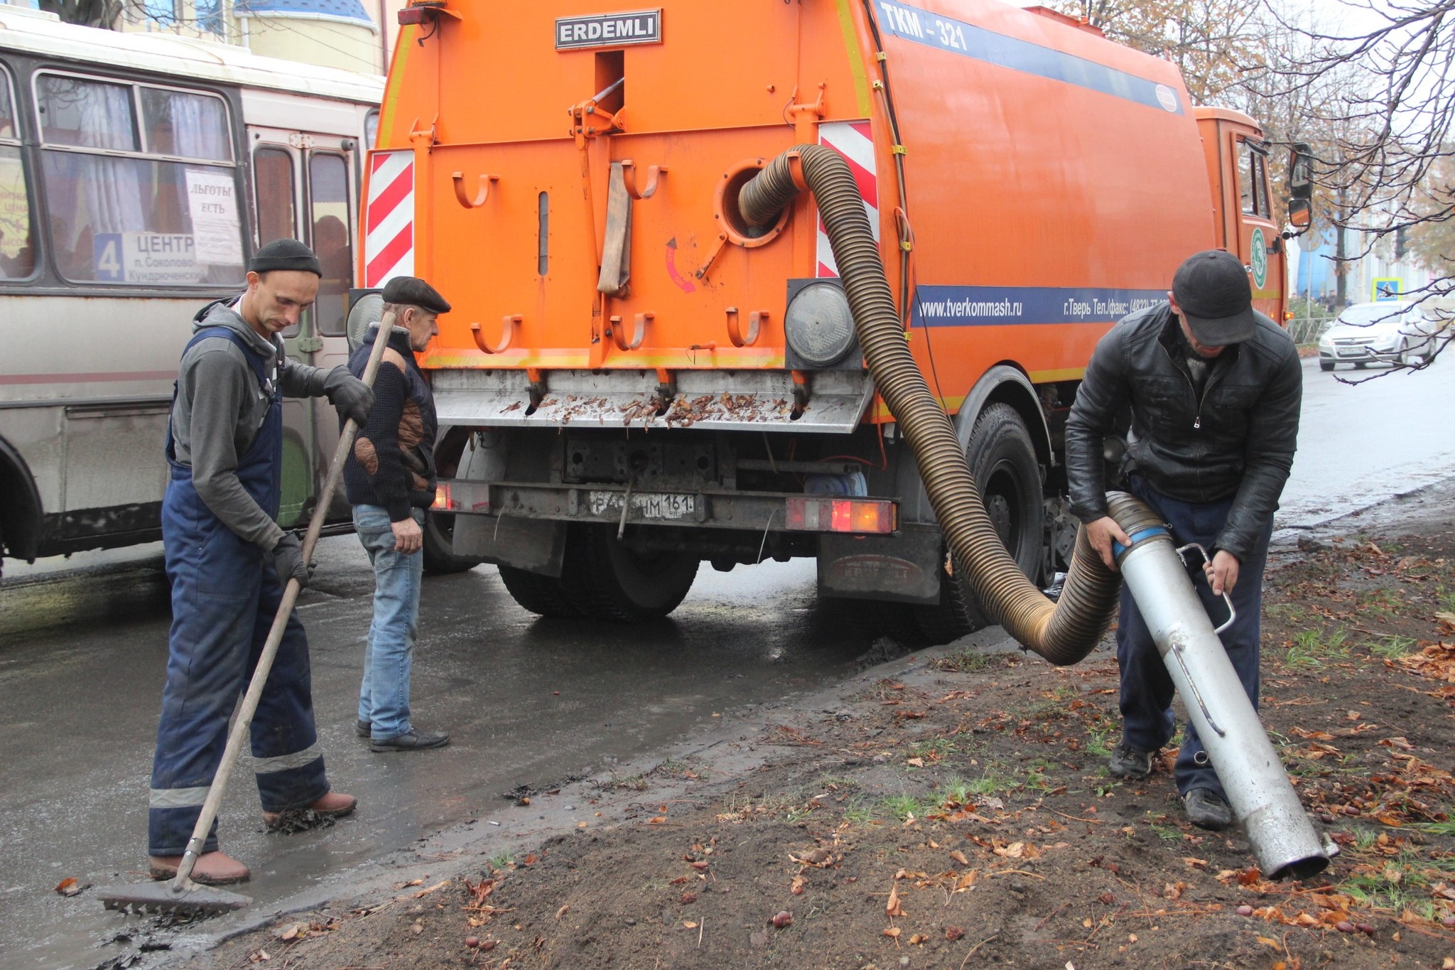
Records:
M1446 508L1305 535L1269 579L1264 723L1342 849L1307 883L1263 878L1241 832L1192 827L1173 750L1144 782L1107 775L1104 646L1069 669L962 646L760 721L732 745L771 752L746 774L709 752L598 779L569 835L194 966L1452 967ZM556 797L582 795L535 800Z

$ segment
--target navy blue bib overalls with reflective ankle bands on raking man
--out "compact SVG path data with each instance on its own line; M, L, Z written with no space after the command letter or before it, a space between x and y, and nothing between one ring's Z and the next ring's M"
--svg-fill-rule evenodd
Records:
M239 457L237 478L269 515L282 494L282 393L276 371L227 327L199 330L188 343L226 337L237 346L272 406ZM183 350L183 355L186 350ZM176 394L173 393L173 406ZM167 685L162 694L151 766L150 855L182 855L227 743L227 721L262 654L282 586L272 557L212 515L179 464L167 426L172 483L162 503L162 540L172 583ZM265 811L313 804L329 793L313 723L308 641L298 615L278 647L252 723L253 763ZM217 849L217 822L204 852Z

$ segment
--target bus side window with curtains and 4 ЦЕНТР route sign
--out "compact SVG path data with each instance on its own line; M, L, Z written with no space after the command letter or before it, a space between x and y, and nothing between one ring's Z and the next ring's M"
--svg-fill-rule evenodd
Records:
M224 119L226 138L226 105L189 95L195 100L163 111L178 92L148 90L71 74L36 79L57 269L71 282L236 284L243 275L237 170L214 124ZM137 124L138 102L154 105L147 127Z

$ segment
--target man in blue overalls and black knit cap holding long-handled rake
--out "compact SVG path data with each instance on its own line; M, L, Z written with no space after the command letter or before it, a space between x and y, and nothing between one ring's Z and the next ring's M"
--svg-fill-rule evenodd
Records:
M167 436L172 481L162 538L172 583L167 685L151 768L153 878L176 875L227 742L227 721L262 653L282 582L308 585L298 537L274 522L282 493L282 396L326 394L345 417L368 419L374 396L346 366L284 356L279 333L319 292L319 259L278 240L247 265L247 289L192 321ZM282 582L279 582L282 580ZM356 798L329 790L313 724L308 641L297 614L252 723L263 817L288 809L343 816ZM192 878L242 883L247 867L218 851L217 823Z

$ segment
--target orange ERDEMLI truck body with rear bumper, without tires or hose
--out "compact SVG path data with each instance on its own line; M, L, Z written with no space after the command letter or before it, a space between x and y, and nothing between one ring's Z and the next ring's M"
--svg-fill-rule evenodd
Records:
M1264 215L1232 211L1251 119L1195 109L1170 63L1049 12L448 0L419 16L370 159L361 275L419 275L454 304L420 355L457 429L441 508L483 513L457 516L457 553L535 574L562 574L567 524L610 522L639 556L819 556L824 592L941 598L914 462L857 348L834 356L810 193L767 230L738 211L796 144L848 160L905 339L966 445L992 404L1024 425L1049 516L1005 515L1045 537L1035 569L1074 532L1059 426L1097 339L1164 300L1189 253L1247 249L1266 215L1266 182ZM1266 253L1267 313L1282 259ZM790 342L803 292L828 308L799 313Z

